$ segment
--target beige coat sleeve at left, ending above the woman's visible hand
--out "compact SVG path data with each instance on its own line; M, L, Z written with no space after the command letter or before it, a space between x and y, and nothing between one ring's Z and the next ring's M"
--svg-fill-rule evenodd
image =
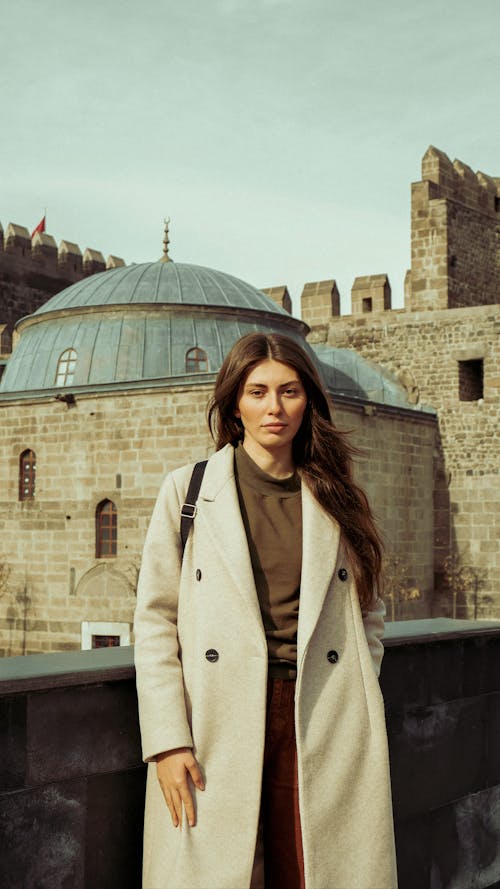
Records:
M176 477L167 476L144 544L134 620L135 669L142 752L146 762L176 747L192 747L177 639L182 565Z

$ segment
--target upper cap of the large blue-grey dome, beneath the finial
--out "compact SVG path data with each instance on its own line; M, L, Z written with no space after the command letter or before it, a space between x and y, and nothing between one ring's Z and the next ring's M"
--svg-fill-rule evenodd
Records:
M35 315L82 306L221 306L288 313L260 290L233 275L180 262L146 262L84 278L52 297Z

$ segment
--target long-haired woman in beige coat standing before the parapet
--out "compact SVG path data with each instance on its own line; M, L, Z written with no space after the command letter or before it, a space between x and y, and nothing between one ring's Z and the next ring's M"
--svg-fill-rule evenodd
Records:
M266 889L395 889L381 549L353 449L277 334L233 346L209 423L184 555L191 466L163 483L138 588L143 887L262 885L262 834Z

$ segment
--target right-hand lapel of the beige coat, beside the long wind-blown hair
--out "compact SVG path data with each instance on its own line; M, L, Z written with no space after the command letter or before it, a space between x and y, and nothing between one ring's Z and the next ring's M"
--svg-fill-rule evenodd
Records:
M340 527L302 483L302 578L297 663L305 654L330 586L337 561Z

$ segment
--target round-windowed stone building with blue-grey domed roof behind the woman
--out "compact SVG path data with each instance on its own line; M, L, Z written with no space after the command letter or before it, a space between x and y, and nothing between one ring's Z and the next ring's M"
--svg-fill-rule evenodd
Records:
M255 330L286 333L311 352L339 426L365 447L359 475L389 550L418 590L415 607L428 611L434 412L354 353L349 366L338 350L320 361L308 327L254 287L159 261L82 278L17 323L0 384L1 651L128 642L162 477L211 452L216 372ZM413 613L403 594L399 584L392 616Z

